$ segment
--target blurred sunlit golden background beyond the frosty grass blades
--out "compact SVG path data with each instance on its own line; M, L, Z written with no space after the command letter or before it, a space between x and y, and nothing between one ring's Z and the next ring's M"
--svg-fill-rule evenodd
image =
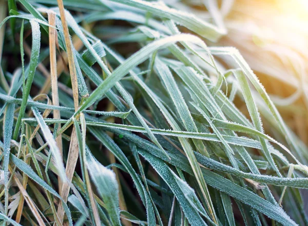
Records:
M240 50L288 126L308 144L308 1L237 0L224 22L228 35L219 45Z

